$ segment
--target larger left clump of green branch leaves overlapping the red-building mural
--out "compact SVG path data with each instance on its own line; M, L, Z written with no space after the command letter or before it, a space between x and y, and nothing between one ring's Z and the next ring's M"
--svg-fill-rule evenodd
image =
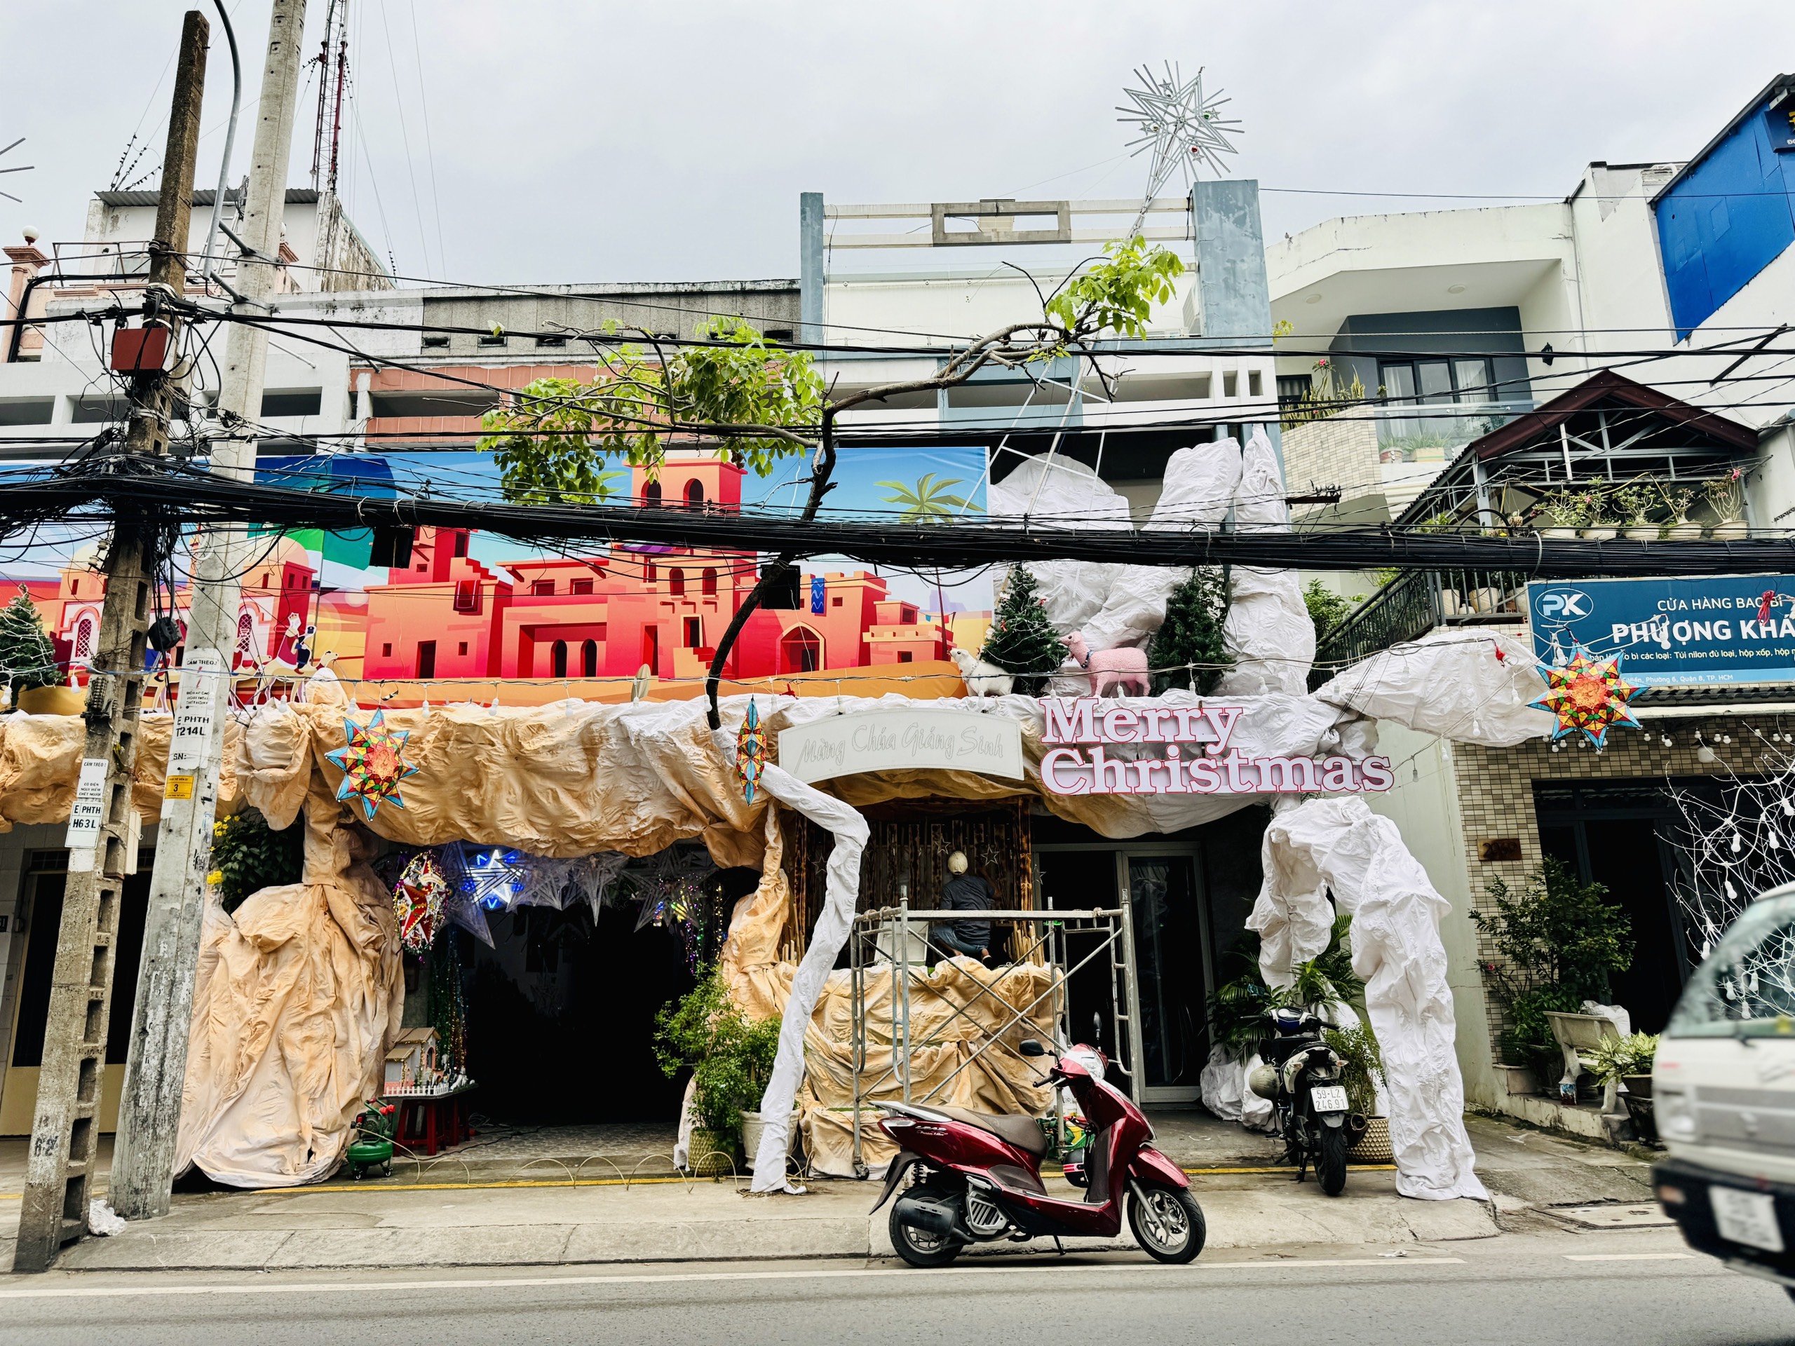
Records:
M616 332L607 325L607 336ZM605 459L641 467L652 481L673 433L722 438L718 456L759 476L804 452L822 415L822 377L810 354L781 348L740 318L713 318L696 336L707 345L607 345L591 384L537 379L510 406L488 411L477 447L499 463L506 497L605 501L621 476L603 470Z

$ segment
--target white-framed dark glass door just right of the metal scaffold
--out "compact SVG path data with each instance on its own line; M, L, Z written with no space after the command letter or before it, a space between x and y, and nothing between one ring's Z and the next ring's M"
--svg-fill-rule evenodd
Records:
M1143 1098L1190 1102L1208 1061L1203 899L1194 854L1124 854Z

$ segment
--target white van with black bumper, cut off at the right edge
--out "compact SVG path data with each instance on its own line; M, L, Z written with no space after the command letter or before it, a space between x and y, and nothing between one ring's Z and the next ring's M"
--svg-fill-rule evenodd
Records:
M1664 1213L1795 1298L1795 885L1752 903L1689 978L1651 1097Z

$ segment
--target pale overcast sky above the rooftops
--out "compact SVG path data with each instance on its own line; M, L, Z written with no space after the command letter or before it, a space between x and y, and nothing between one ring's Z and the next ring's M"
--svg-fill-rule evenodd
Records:
M226 0L232 4L232 0ZM1140 63L1208 66L1265 188L1563 196L1590 160L1700 149L1786 63L1790 0L1472 5L547 4L350 0L345 197L404 275L458 282L797 275L797 197L1125 197L1115 104ZM81 237L133 131L162 154L187 5L39 0L13 13L0 237ZM320 29L325 0L311 0ZM206 11L215 20L212 9ZM267 0L235 0L241 176ZM316 38L309 38L316 50ZM214 22L201 181L230 57ZM293 185L311 181L302 95ZM1267 237L1341 214L1467 206L1267 192ZM962 264L926 251L867 266Z

